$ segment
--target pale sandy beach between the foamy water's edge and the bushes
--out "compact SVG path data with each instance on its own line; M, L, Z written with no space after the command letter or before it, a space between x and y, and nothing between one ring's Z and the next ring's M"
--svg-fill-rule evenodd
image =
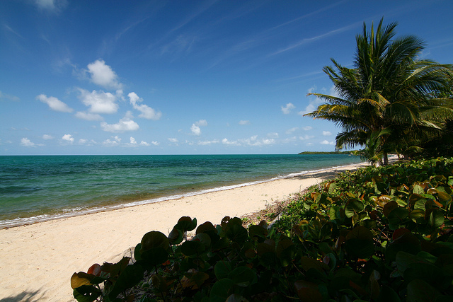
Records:
M224 216L250 214L363 165L1 229L0 301L75 301L69 282L74 272L120 260L148 231L168 234L180 216L217 224Z

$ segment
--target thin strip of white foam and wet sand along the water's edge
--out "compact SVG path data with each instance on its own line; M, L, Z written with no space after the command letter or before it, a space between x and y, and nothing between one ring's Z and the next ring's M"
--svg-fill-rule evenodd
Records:
M329 168L321 168L318 170L305 170L305 171L300 171L297 173L289 173L287 175L277 176L277 177L269 178L269 179L265 179L265 180L254 180L254 181L250 181L250 182L239 183L236 185L224 185L221 187L202 189L202 190L198 190L195 192L185 192L185 193L168 195L168 196L163 196L163 197L156 197L153 199L137 200L134 202L125 202L125 203L121 203L121 204L112 204L112 205L103 206L103 207L94 207L94 208L88 208L88 209L77 209L77 208L68 209L67 212L64 214L42 214L42 215L38 215L38 216L31 216L31 217L25 217L25 218L19 218L19 219L0 220L0 230L4 229L4 228L14 228L17 226L28 226L30 224L41 223L41 222L45 222L45 221L52 221L52 220L57 220L57 219L67 219L70 217L83 216L83 215L88 215L88 214L96 214L96 213L100 213L103 211L115 211L117 209L125 209L128 207L137 207L137 206L141 206L144 204L168 202L169 200L180 199L183 197L192 197L192 196L197 196L200 194L206 194L206 193L210 193L210 192L221 192L221 191L225 191L225 190L233 190L233 189L236 189L239 187L248 187L251 185L258 185L260 183L273 182L275 180L282 180L282 179L307 175L310 173L321 173L325 170L348 168L349 166L358 165L358 164L360 164L360 163L350 163L348 165L338 165L338 166L333 166L333 167L329 167Z

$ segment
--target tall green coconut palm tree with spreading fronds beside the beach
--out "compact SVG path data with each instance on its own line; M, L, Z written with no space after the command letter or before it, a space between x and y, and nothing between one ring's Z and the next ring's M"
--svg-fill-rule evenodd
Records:
M334 59L335 67L323 68L338 96L310 93L326 103L306 115L343 127L336 137L337 149L379 139L379 148L372 149L382 153L386 164L387 154L401 145L401 134L412 138L407 141L415 141L423 133L439 131L442 122L453 117L453 88L449 85L453 68L418 59L424 42L413 35L392 40L397 23L385 27L382 23L383 19L376 32L374 25L367 32L364 23L362 35L356 37L354 68L341 66ZM384 134L377 135L381 132Z

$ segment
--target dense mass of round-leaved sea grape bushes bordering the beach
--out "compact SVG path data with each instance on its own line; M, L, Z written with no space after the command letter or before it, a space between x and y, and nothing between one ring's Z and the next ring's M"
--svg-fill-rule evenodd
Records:
M78 301L452 301L452 195L452 158L362 168L271 228L182 217L71 286Z

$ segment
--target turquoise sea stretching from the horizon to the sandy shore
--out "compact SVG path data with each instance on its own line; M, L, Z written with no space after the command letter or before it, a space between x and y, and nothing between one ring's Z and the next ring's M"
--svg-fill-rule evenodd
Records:
M359 162L347 155L0 156L0 228Z

